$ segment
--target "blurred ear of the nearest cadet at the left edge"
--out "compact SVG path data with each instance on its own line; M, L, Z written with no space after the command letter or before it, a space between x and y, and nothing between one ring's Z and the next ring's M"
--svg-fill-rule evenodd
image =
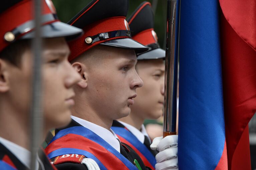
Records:
M6 71L6 63L0 59L0 92L4 93L10 89L8 83L8 72Z

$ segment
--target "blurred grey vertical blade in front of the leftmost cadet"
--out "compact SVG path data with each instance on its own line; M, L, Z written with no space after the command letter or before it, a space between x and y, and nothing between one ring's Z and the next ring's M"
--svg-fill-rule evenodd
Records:
M41 108L41 3L34 0L35 37L33 41L33 71L32 71L32 99L31 99L31 170L36 169L37 151L42 140L42 108Z

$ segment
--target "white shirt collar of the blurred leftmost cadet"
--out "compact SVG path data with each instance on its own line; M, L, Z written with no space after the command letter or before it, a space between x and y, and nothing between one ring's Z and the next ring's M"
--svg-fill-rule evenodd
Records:
M21 163L23 163L27 168L30 167L30 151L9 141L2 137L0 137L0 142L16 156Z

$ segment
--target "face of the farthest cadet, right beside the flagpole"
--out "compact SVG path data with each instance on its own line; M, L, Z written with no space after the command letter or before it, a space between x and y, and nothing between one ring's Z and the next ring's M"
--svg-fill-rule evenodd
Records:
M163 114L165 64L163 59L139 60L136 70L144 85L137 90L132 114L157 119Z

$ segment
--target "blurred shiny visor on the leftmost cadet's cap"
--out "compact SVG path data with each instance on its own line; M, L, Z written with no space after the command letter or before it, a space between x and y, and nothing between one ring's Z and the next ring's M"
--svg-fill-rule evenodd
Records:
M67 40L75 39L83 33L81 29L60 21L44 25L41 27L41 30L43 38L65 37ZM31 31L22 36L21 39L31 39L34 36L35 32Z

